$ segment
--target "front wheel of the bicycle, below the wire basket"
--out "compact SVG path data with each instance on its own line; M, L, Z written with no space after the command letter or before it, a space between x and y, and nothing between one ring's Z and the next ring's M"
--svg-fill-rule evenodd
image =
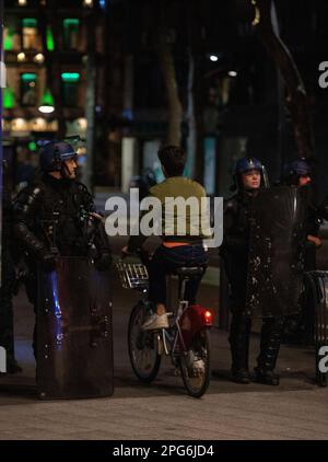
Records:
M128 330L129 356L136 376L144 383L152 382L161 366L157 342L151 331L143 332L142 324L147 317L144 304L138 303L130 315Z

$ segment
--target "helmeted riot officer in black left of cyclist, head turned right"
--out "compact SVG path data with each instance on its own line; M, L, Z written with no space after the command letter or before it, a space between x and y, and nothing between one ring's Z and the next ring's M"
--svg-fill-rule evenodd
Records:
M14 201L14 233L28 266L26 291L35 311L37 266L51 272L56 256L87 257L92 247L97 269L107 269L112 262L102 217L95 212L87 188L75 180L72 146L47 142L39 153L39 166L42 176Z

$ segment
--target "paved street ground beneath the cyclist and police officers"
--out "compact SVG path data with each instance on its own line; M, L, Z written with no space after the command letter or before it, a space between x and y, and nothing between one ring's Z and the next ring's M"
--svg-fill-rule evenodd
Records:
M328 389L314 383L311 348L282 347L281 385L238 385L229 380L225 332L211 333L212 379L201 400L186 395L165 362L151 386L133 376L127 322L137 294L113 277L115 394L109 399L39 402L31 351L32 308L15 299L16 349L24 372L0 379L0 439L328 439ZM218 305L218 288L202 285L199 301ZM258 336L251 342L251 365Z

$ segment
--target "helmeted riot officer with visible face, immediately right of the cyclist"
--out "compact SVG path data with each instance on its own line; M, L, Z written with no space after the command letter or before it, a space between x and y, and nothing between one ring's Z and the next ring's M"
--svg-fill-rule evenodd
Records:
M249 252L249 209L254 197L265 181L265 169L257 159L238 160L234 182L237 194L229 199L224 210L224 240L221 255L231 287L232 322L230 345L232 353L232 378L237 383L249 383L248 349L251 320L246 315L246 287ZM256 380L278 385L273 373L280 348L281 317L263 319L260 354L255 368Z

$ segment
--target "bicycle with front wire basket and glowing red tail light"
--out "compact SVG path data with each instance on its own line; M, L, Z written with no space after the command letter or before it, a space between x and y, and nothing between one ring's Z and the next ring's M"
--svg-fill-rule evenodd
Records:
M203 275L206 268L176 269L178 304L173 313L168 313L168 328L143 331L141 326L152 313L152 304L148 300L147 266L122 261L116 266L122 287L141 292L141 299L132 309L128 328L129 357L136 376L142 382L151 383L160 370L162 355L166 355L180 371L189 395L202 396L210 383L209 328L213 325L213 313L201 305L190 304L184 300L184 293L187 280Z

